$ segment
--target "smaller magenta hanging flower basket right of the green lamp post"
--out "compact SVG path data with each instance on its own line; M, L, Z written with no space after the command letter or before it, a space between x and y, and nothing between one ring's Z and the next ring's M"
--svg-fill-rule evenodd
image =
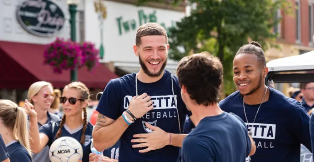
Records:
M99 50L91 42L84 42L80 49L82 51L82 62L89 71L92 71L99 63Z

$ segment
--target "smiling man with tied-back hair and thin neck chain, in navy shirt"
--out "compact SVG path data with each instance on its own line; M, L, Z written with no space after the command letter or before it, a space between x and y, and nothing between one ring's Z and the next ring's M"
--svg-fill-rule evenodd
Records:
M238 50L233 73L239 90L219 106L246 122L256 144L247 162L300 162L301 144L312 150L310 116L299 102L265 85L268 68L260 44L251 42Z

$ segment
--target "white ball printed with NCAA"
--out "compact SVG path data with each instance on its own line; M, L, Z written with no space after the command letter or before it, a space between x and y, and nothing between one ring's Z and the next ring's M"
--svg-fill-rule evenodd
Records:
M60 137L50 146L49 158L51 162L78 162L83 158L81 143L69 136Z

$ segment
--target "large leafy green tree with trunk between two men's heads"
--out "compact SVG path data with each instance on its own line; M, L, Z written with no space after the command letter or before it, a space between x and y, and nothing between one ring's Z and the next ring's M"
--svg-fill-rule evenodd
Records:
M288 11L290 5L286 0L189 2L197 3L197 6L190 16L170 29L169 57L180 60L188 54L202 51L218 56L224 67L224 94L235 90L232 60L237 50L250 40L258 41L265 51L273 46L277 34L272 28L279 22L275 15L278 9Z

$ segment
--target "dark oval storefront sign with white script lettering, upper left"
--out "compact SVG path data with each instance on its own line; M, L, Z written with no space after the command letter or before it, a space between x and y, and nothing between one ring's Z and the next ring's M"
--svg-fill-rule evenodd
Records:
M55 36L65 22L62 9L52 0L24 0L16 17L25 30L41 37Z

